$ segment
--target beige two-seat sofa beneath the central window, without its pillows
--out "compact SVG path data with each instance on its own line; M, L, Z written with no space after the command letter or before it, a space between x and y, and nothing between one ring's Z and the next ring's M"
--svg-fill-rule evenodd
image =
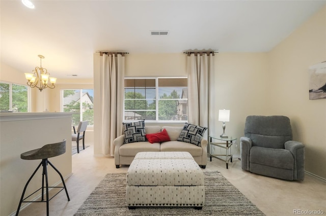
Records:
M203 169L207 164L207 139L201 138L200 145L194 145L185 141L177 141L183 127L172 126L158 126L158 125L146 125L146 134L155 134L161 131L168 133L170 141L154 142L149 141L135 141L131 143L125 142L125 134L118 136L114 140L115 145L115 165L119 168L120 165L130 165L135 155L139 152L189 152L194 160Z

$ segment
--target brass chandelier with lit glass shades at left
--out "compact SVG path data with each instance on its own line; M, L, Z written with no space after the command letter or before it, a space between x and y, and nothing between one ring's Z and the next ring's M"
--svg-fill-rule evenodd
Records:
M49 77L50 74L47 72L47 69L42 67L42 58L44 56L38 55L40 58L40 66L35 67L35 70L33 70L33 74L25 73L25 78L28 80L27 85L31 86L31 88L38 88L40 91L42 91L45 88L54 89L55 83L57 82L57 78ZM50 82L50 85L48 85L48 81Z

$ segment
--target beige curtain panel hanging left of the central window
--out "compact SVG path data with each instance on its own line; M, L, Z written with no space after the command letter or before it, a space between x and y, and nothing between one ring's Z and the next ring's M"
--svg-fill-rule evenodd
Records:
M103 155L114 155L113 140L122 133L124 53L100 53L100 142Z

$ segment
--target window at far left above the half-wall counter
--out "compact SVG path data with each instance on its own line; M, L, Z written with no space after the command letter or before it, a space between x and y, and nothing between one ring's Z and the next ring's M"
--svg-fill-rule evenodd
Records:
M13 83L0 83L0 110L29 112L28 87Z

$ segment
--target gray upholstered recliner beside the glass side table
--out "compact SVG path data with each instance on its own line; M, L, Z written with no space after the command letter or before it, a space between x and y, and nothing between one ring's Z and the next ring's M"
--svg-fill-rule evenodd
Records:
M290 181L305 178L305 147L292 141L286 116L248 116L240 155L244 170Z

